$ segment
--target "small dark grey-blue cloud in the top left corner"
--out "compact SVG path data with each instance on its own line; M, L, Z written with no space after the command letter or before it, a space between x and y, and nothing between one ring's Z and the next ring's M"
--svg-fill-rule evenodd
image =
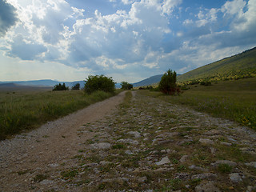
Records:
M18 18L14 6L5 0L0 0L0 37L4 36L11 26L14 26Z

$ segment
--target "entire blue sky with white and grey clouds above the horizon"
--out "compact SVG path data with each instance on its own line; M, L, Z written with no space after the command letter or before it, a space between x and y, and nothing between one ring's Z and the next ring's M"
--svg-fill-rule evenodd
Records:
M138 82L256 46L256 0L0 0L0 81Z

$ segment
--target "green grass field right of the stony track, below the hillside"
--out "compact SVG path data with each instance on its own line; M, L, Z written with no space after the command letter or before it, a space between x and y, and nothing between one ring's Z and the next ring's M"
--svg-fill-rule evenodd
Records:
M180 96L145 92L167 102L190 106L195 110L227 118L256 130L256 78L224 81L213 86L188 86Z

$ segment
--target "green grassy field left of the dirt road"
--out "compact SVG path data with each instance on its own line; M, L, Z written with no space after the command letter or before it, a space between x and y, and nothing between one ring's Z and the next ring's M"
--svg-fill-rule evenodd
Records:
M120 93L117 90L115 94ZM63 117L114 94L96 91L0 92L0 140Z

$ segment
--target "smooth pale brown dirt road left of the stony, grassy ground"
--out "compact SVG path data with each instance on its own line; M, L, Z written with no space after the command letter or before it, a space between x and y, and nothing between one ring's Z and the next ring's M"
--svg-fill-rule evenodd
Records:
M113 113L124 95L122 92L38 130L0 142L0 191L33 190L31 182L46 178L47 170L65 164L67 158L77 154L79 146L94 137L90 131L81 134L79 128Z

